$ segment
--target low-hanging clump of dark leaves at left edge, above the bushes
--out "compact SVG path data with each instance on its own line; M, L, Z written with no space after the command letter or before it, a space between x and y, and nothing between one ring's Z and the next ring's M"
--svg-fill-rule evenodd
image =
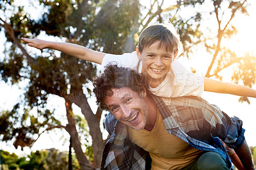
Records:
M20 114L22 115L21 117ZM27 123L28 121L29 123ZM15 148L17 146L21 146L22 148L24 146L31 146L35 142L35 139L39 137L40 128L46 129L50 126L49 122L51 122L51 126L60 125L60 122L48 110L44 114L38 114L35 117L29 114L28 109L20 109L20 105L16 104L12 111L3 111L0 115L1 140L11 141L15 139L13 143ZM38 134L38 137L34 137L35 134Z

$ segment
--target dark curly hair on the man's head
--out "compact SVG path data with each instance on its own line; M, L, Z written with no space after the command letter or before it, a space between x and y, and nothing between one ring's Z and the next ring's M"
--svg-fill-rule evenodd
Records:
M131 88L140 94L145 89L148 89L147 80L143 75L136 73L130 68L118 67L111 63L104 67L104 72L94 77L93 93L97 98L97 105L100 109L108 110L103 100L106 96L113 95L112 89Z

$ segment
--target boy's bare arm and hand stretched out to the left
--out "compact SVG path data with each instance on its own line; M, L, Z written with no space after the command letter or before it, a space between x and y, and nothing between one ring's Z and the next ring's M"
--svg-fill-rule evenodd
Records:
M37 38L21 38L24 42L27 42L30 47L36 49L54 49L65 52L70 56L75 56L86 61L92 61L94 63L101 64L102 59L106 55L104 52L98 52L95 50L87 49L81 45L66 42L49 42L45 40L39 40Z

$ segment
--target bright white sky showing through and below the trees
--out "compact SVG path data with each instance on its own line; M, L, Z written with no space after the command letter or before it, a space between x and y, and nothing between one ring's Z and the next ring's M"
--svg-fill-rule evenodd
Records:
M255 48L255 40L256 40L256 34L254 34L254 27L250 25L252 23L252 20L255 20L256 18L256 1L249 1L251 3L251 6L248 8L248 13L250 13L250 16L248 17L242 17L240 15L236 16L236 20L234 21L236 24L236 27L238 29L237 38L234 38L227 42L227 45L231 45L233 49L236 49L237 52L240 54L243 54L246 51L251 51L256 53ZM20 1L20 3L22 3ZM35 3L37 8L42 8L38 4ZM166 4L168 5L168 4ZM31 9L33 7L28 7L28 9ZM205 9L202 9L205 10ZM207 10L207 9L206 9ZM3 13L2 13L3 14ZM1 15L1 12L0 12ZM36 17L36 15L40 16L40 12L36 12L33 17ZM188 13L189 15L189 13ZM208 23L211 24L211 23ZM39 36L39 38L44 39L45 35L44 33ZM46 37L49 39L49 37ZM53 38L51 37L52 41L61 41L60 38ZM3 43L4 43L4 35L3 32L0 33L0 59L3 58ZM31 47L28 47L29 54L33 53L40 53L40 50L35 50ZM58 53L58 52L57 52ZM193 56L191 59L186 59L180 57L178 60L180 63L182 63L186 68L190 69L191 66L193 68L196 68L198 73L205 74L205 70L211 61L209 58L205 57L205 55L202 52L198 52L197 55ZM222 72L223 75L223 81L230 82L230 76L231 75L232 68L226 69L225 72ZM21 86L26 86L26 82L22 82L20 84ZM3 81L0 81L0 109L12 109L12 105L16 104L18 100L20 100L20 95L22 95L23 91L19 89L18 86L9 86L8 84L5 84ZM253 89L256 89L256 86L253 86ZM227 94L218 94L218 93L210 93L210 92L204 92L203 98L207 100L211 104L218 105L222 111L226 112L228 116L237 116L241 120L243 120L243 127L246 129L245 137L246 141L249 146L256 146L256 135L255 135L255 121L256 121L256 98L249 98L251 104L248 105L247 103L239 103L237 102L239 97L233 96L233 95L227 95ZM93 111L96 111L97 107L95 104L95 98L91 98L89 100L90 105L93 105ZM58 118L62 118L63 112L65 113L65 106L64 106L64 100L63 98L56 97L54 95L51 95L49 97L49 102L47 104L47 108L49 109L56 109L56 116ZM74 112L76 114L81 114L81 111L79 107L74 106ZM63 120L63 123L65 123L67 120ZM106 132L104 132L106 135ZM55 130L52 132L47 132L42 134L39 139L36 141L36 143L33 145L31 150L42 150L42 149L49 149L49 148L56 148L58 150L68 150L68 139L69 135L65 130ZM85 149L85 148L83 148ZM24 148L24 151L22 151L20 148L15 150L15 148L12 146L12 143L2 143L0 142L0 150L7 150L10 152L15 152L17 155L24 155L29 154L30 149Z

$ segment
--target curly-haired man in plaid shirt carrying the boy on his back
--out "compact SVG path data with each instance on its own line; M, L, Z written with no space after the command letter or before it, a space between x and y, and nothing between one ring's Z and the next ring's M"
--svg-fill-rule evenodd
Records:
M242 121L202 98L156 97L141 75L116 65L93 85L97 104L111 111L102 169L230 169L220 139L254 169Z

